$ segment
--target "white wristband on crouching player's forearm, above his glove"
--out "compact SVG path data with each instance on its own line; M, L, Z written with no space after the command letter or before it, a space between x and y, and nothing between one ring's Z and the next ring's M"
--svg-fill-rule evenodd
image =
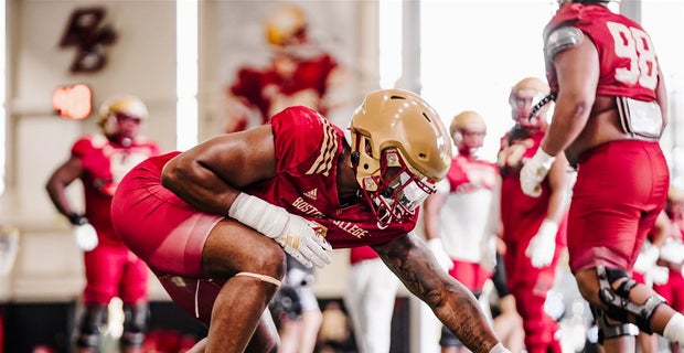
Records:
M290 214L282 207L241 192L228 208L228 216L275 238L282 234Z

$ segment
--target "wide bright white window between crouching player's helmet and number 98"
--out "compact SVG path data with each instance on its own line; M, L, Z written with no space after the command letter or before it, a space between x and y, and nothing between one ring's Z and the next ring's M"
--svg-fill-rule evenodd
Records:
M421 94L447 126L462 110L484 117L483 159L495 160L513 126L511 87L545 77L542 31L556 8L548 0L423 1Z

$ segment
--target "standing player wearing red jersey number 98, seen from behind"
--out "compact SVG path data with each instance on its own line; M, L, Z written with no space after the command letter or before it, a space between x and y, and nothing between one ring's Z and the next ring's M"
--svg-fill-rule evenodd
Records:
M534 194L563 153L577 167L569 265L607 352L634 349L629 322L682 345L684 317L631 279L670 185L659 145L667 94L653 43L607 1L564 1L544 29L544 54L556 107L522 189Z

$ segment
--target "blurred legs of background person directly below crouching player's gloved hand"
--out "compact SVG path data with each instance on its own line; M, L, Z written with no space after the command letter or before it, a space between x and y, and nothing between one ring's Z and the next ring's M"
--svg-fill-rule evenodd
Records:
M311 353L316 349L323 315L313 293L316 271L287 256L282 287L269 309L280 333L280 353Z

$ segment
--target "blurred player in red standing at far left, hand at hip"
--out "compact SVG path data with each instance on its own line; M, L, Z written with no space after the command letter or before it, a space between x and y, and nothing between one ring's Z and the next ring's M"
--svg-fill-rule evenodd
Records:
M79 352L96 352L111 298L124 301L126 321L121 352L139 352L148 319L148 267L121 242L111 225L111 197L124 174L139 162L160 153L146 140L140 122L148 117L145 104L133 96L105 101L98 125L103 133L79 138L71 157L52 173L46 184L57 211L74 225L77 245L84 250L85 311L78 325ZM85 214L74 210L66 195L76 179L83 182Z

